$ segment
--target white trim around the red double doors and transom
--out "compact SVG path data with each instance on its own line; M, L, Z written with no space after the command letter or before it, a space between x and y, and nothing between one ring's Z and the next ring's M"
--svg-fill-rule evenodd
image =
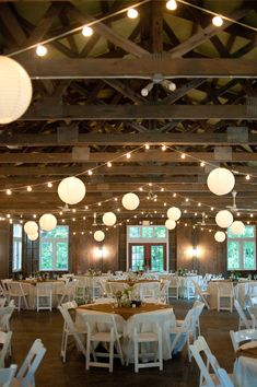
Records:
M129 244L130 243L149 243L149 244L154 244L154 243L164 243L166 244L166 271L170 270L170 267L168 267L168 230L166 230L166 236L165 238L137 238L137 237L130 237L129 236L129 228L130 227L139 227L140 228L140 235L142 234L142 228L143 227L162 227L163 225L162 224L155 224L155 225L149 225L149 226L145 226L145 225L139 225L139 224L129 224L127 225L127 259L126 259L126 270L129 270Z

